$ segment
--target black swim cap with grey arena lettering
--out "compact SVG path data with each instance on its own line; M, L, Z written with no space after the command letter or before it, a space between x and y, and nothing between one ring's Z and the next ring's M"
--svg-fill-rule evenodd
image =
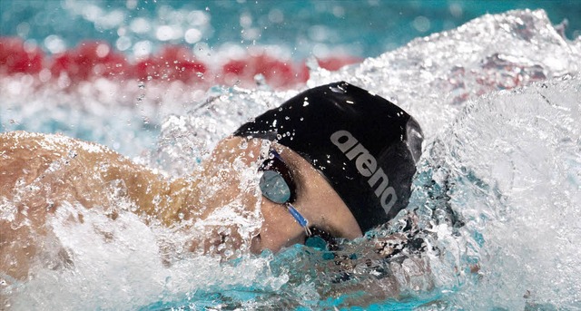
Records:
M277 141L299 153L329 181L363 232L408 205L423 140L408 113L345 82L301 92L234 135Z

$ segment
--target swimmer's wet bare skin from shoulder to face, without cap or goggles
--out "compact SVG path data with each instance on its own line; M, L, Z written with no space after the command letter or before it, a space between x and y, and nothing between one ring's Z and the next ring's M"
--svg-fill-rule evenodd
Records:
M0 273L15 279L28 276L34 257L43 251L39 237L53 235L46 221L62 204L103 209L115 219L119 212L115 203L122 199L120 196L133 203L144 222L168 227L206 219L216 209L240 202L241 212L260 209L261 227L244 237L231 226L234 230L229 231L228 247L250 244L246 249L260 253L302 243L304 229L283 205L262 198L255 186L241 188L248 184L243 181L243 172L258 168L264 143L259 139L226 138L195 176L168 180L94 143L60 135L0 134L0 211L7 215L1 209L11 207L10 217L0 218ZM294 151L277 144L272 147L291 169L297 183L293 205L309 219L310 226L335 237L360 237L356 220L320 173ZM256 180L259 176L256 170ZM83 213L69 219L82 222ZM223 237L210 235L192 238L189 247L208 252L212 245L222 242ZM65 257L64 261L69 260Z

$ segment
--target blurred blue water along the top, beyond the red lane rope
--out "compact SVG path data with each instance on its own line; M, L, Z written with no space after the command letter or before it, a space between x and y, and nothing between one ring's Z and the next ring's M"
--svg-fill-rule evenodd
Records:
M568 38L581 34L577 1L5 0L0 35L32 40L48 52L99 39L128 53L135 44L152 50L160 44L198 44L213 51L235 44L275 45L297 59L336 53L369 57L487 13L538 8L553 24L567 20ZM168 25L172 34L160 32ZM187 35L190 29L196 31Z

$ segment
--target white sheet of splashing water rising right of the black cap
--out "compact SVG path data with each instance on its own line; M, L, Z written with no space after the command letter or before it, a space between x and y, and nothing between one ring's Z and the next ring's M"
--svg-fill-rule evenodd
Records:
M462 238L439 236L456 259L433 262L467 273L454 282L434 273L456 287L451 306L581 306L579 91L577 75L478 98L428 146L420 174L445 176L436 183L465 223ZM427 200L411 205L431 212Z

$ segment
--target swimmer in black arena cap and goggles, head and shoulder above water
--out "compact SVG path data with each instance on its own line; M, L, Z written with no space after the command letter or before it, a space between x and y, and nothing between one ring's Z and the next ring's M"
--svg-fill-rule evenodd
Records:
M116 203L125 199L145 223L168 227L206 219L236 198L260 208L263 221L251 237L235 230L213 240L193 237L192 250L210 251L224 239L233 247L247 240L261 253L313 235L359 238L407 206L422 139L408 113L344 82L301 92L243 124L217 144L200 173L173 180L91 142L2 133L0 278L29 277L44 251L39 237L54 235L46 223L64 204L115 219ZM257 189L241 189L241 167L256 169ZM65 251L62 259L64 266L72 260Z

